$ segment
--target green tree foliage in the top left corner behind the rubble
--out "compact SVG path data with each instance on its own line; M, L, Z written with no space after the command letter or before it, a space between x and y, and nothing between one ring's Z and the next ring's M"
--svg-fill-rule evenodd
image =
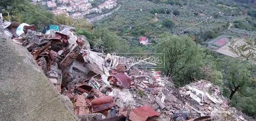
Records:
M9 11L11 21L34 24L39 31L44 26L56 24L53 22L54 14L52 12L47 11L43 6L32 5L28 0L4 0L1 1L0 8ZM3 16L7 16L7 14L4 13Z

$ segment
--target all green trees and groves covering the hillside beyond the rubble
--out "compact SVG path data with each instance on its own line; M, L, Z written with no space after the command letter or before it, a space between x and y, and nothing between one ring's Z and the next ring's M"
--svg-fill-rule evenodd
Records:
M22 5L25 3L32 10ZM99 3L100 1L95 1L93 5ZM75 22L63 14L54 16L44 7L31 5L26 0L3 0L0 8L5 9L1 12L6 20L9 19L7 13L10 13L12 21L35 24L39 31L48 24L75 23L76 33L86 36L91 48L97 52L165 53L165 68L159 70L175 84L184 86L192 82L193 78L209 80L220 87L230 104L253 116L256 113L256 68L248 60L254 54L246 55L250 58L241 60L219 55L204 47L207 40L223 33L247 36L255 34L256 11L255 6L249 4L255 5L255 2L124 0L118 11L95 25L88 23L86 19ZM233 6L228 8L231 5ZM228 29L230 27L232 29ZM139 45L139 36L146 36L152 44ZM255 49L255 44L249 42L248 45Z

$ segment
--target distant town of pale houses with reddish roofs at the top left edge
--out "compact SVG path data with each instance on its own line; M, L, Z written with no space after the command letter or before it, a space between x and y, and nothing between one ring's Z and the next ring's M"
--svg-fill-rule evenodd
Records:
M93 13L101 13L103 9L112 9L117 6L116 0L107 0L97 7L92 7L90 2L94 0L50 0L45 2L44 0L32 0L32 3L41 3L47 5L48 8L52 9L52 13L66 14L72 16L74 19L80 19L85 15Z

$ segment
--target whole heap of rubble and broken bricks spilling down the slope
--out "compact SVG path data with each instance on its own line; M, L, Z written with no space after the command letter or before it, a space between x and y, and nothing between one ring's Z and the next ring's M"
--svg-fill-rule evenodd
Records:
M91 51L87 39L76 36L73 27L58 28L44 34L34 25L24 25L24 33L12 33L11 38L28 49L50 82L73 102L81 121L248 118L230 108L210 82L197 80L179 88L160 71L132 68L134 63L126 63L123 57Z

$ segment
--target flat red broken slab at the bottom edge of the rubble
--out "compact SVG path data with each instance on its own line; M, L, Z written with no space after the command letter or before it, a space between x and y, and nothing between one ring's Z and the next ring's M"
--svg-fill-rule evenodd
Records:
M127 115L127 111L121 113L123 116ZM160 116L161 114L156 112L149 105L144 105L143 107L139 107L136 109L131 109L129 119L131 121L146 121L147 118L153 116Z

